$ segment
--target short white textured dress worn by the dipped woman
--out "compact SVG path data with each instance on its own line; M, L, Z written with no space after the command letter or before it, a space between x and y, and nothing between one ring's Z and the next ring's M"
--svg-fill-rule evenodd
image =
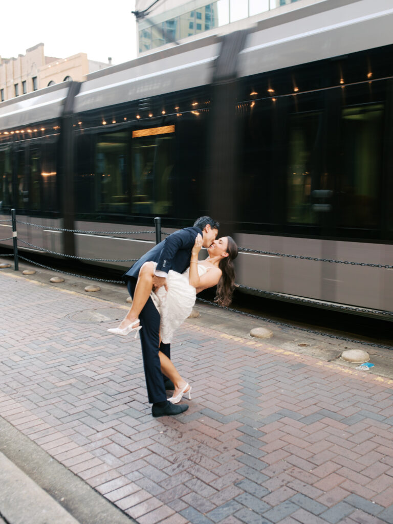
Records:
M154 270L156 270L157 264ZM151 300L160 313L160 334L165 344L172 341L174 331L184 322L192 311L196 298L196 290L189 284L189 271L178 273L172 269L168 272L167 286L158 288L157 292L150 293ZM198 263L198 274L201 277L208 271L206 266Z

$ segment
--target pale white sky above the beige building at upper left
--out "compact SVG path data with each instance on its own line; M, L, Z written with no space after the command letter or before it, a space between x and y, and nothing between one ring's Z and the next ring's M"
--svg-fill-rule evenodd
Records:
M132 60L137 56L133 10L135 0L3 0L0 56L17 57L43 42L48 57L83 52L100 62Z

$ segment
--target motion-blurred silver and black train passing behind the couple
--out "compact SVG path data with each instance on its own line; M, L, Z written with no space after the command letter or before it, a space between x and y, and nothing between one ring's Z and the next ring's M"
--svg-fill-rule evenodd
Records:
M32 246L123 259L155 238L122 231L224 213L244 248L391 264L391 27L389 0L331 0L3 102L0 220L16 208ZM237 282L393 311L391 269L242 252Z

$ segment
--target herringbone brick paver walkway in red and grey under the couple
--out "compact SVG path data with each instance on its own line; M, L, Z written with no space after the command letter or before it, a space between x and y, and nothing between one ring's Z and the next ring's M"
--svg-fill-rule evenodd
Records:
M0 416L140 524L393 523L392 380L187 323L154 419L139 340L70 318L116 304L0 285Z

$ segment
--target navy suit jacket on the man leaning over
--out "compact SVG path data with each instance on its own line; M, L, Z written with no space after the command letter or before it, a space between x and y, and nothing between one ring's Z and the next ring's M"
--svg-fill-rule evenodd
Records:
M168 273L170 269L183 273L190 265L191 250L195 244L196 235L202 235L199 227L185 227L167 236L162 242L152 247L139 258L124 277L138 278L139 270L145 262L157 262L157 271Z

